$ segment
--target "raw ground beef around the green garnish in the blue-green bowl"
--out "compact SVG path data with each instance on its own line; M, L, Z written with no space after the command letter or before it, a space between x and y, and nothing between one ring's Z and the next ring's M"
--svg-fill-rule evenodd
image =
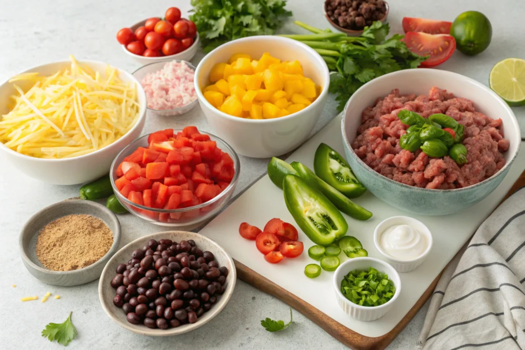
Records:
M424 118L444 113L463 124L468 163L458 165L449 156L432 159L421 150L402 150L399 140L408 128L397 118L402 109ZM377 99L363 111L361 127L352 144L355 154L376 172L403 184L433 189L460 188L484 181L505 165L502 152L509 146L501 119L476 112L472 101L437 87L430 89L428 96L403 95L395 89Z

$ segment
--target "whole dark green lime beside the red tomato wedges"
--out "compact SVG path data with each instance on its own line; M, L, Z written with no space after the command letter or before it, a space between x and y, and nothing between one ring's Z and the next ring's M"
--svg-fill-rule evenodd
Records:
M492 38L490 21L481 12L467 11L454 19L450 35L456 39L456 47L465 55L474 56L484 51Z

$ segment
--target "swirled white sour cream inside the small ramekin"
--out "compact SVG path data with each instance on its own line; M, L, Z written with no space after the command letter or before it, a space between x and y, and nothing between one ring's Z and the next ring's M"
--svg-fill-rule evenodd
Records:
M428 247L425 235L409 225L393 225L383 231L379 239L381 249L398 260L421 257Z

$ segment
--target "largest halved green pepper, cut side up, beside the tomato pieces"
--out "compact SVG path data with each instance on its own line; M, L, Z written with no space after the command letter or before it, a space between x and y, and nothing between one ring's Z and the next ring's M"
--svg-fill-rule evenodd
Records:
M346 234L348 224L339 210L304 179L286 175L282 189L288 211L312 242L328 246Z

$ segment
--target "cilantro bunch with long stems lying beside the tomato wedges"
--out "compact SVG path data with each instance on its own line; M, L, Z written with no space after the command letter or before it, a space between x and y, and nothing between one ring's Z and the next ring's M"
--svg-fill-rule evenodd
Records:
M339 111L364 83L386 73L417 68L427 58L409 51L402 41L403 35L394 34L386 39L390 27L379 21L365 27L359 37L332 33L330 29L321 30L299 21L295 24L314 34L282 36L302 41L323 57L332 71L329 91L337 94Z

